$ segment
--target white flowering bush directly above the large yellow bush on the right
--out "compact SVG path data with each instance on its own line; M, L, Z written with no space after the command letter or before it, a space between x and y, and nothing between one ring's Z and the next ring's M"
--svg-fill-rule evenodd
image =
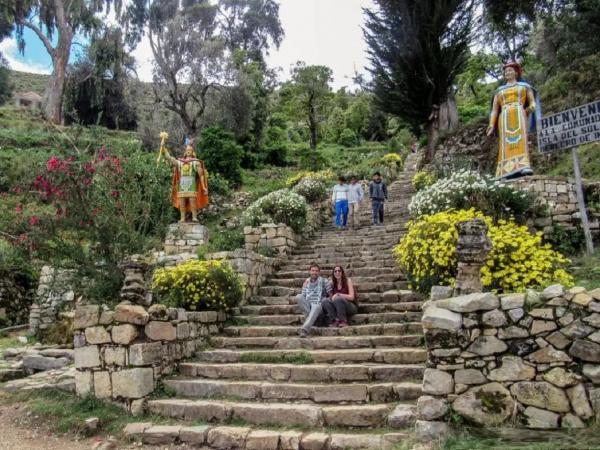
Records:
M460 170L417 192L408 209L418 218L451 209L475 208L496 220L513 217L522 223L534 213L543 214L539 207L539 201L529 192L514 189L489 175Z

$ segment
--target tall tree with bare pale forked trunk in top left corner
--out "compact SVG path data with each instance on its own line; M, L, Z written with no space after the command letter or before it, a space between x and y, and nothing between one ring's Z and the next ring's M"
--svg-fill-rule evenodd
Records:
M17 42L25 51L25 28L42 41L52 59L52 74L44 93L44 115L54 123L62 121L62 101L71 46L75 35L88 35L100 25L96 14L117 13L121 0L7 0L0 12L14 20ZM56 39L55 39L56 38Z

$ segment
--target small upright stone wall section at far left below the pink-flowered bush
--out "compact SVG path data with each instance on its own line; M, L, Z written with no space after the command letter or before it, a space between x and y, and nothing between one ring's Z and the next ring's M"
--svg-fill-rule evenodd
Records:
M70 272L42 267L40 281L29 312L29 333L38 334L56 321L61 311L69 309L75 293L69 280Z

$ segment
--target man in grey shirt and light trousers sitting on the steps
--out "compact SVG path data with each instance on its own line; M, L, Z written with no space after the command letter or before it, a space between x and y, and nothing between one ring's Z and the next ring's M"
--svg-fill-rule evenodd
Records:
M304 312L304 323L300 328L300 337L307 337L311 327L323 312L323 302L329 301L333 288L331 282L321 276L321 268L316 263L310 264L310 277L302 285L302 293L296 296L296 301Z

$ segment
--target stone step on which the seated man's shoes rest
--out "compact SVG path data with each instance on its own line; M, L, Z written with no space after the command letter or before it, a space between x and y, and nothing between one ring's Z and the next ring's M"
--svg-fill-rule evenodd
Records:
M377 323L368 325L353 325L345 328L320 328L315 327L311 330L311 335L306 339L313 339L314 336L376 336L376 335L406 335L421 334L423 327L420 322L406 323ZM231 326L223 330L226 336L232 337L268 337L268 336L298 336L298 327L293 326L268 326L268 327L247 327Z

